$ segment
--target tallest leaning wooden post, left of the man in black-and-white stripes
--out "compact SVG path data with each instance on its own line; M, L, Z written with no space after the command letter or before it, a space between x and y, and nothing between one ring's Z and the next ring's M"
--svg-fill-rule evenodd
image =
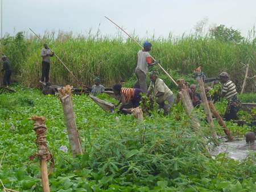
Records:
M194 70L194 73L195 73L195 76L196 76L196 81L197 81L197 83L199 85L200 97L201 97L201 99L203 101L203 105L204 105L204 112L205 112L205 115L207 116L207 121L210 124L210 131L212 132L212 137L214 139L217 139L217 133L214 130L212 113L210 112L210 107L209 107L207 96L206 96L206 93L205 93L204 81L203 81L203 73L201 73L200 66L199 66L199 68Z

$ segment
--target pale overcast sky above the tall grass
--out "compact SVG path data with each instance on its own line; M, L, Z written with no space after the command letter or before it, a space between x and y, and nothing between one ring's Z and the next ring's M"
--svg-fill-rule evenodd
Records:
M196 23L225 24L247 36L256 23L256 0L2 0L3 33L73 31L116 35L109 16L140 37L189 34Z

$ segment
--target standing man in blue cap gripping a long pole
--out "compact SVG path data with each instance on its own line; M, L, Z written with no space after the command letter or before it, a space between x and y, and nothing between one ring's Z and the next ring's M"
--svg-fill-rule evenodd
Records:
M137 68L135 69L137 82L134 87L141 89L143 93L146 93L147 91L146 74L148 66L155 64L152 63L150 53L148 53L150 52L151 47L152 44L145 41L143 44L143 50L140 50L137 55Z

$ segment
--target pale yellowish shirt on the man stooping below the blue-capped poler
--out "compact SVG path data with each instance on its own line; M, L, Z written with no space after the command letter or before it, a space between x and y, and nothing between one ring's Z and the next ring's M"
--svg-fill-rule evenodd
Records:
M157 78L155 82L150 82L150 86L148 87L148 91L151 93L154 91L154 94L157 95L159 92L164 93L163 99L166 100L167 97L170 97L172 94L172 91L169 89L169 87L164 84L164 81L160 78Z

